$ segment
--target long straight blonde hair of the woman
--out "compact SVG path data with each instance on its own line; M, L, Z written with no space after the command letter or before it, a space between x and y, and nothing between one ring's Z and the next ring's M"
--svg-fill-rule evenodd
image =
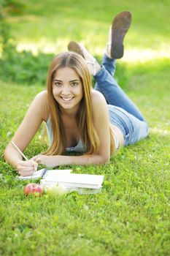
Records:
M91 102L91 80L88 67L85 63L85 59L77 53L66 52L59 53L50 64L47 74L47 95L50 108L50 118L52 121L53 131L53 143L47 149L45 154L56 155L64 154L66 151L66 135L64 132L63 121L61 118L61 110L58 102L56 102L53 96L53 79L57 69L62 67L70 67L77 72L82 83L83 97L80 101L80 107L77 112L77 127L80 131L80 136L85 144L88 154L94 154L98 152L100 141L96 129L93 126L92 117L92 102ZM110 132L111 135L111 132ZM113 146L113 140L111 135L111 148Z

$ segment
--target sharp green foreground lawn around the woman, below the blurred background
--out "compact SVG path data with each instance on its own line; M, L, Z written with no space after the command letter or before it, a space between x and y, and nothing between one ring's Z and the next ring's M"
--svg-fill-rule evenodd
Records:
M128 94L150 123L149 138L123 148L107 165L73 167L104 174L101 194L25 197L26 182L1 159L1 255L169 255L167 78L157 72L128 80ZM1 153L41 89L1 83ZM43 147L37 135L26 155Z

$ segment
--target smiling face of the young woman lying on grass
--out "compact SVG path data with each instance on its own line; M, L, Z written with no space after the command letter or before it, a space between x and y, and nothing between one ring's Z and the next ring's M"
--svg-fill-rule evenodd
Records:
M63 112L77 113L83 91L80 77L74 69L62 67L56 70L53 96Z

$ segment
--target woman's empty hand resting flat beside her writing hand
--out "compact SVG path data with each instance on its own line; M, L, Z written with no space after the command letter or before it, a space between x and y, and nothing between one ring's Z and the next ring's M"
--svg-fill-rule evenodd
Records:
M55 167L60 165L59 156L46 156L44 154L38 154L35 157L32 157L31 160L34 160L40 165L46 165L47 167Z

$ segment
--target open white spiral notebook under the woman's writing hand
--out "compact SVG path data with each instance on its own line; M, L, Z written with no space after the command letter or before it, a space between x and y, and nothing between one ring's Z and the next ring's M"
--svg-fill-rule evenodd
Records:
M63 174L69 174L71 172L72 172L72 170L41 169L41 170L36 170L36 172L34 172L33 175L31 175L31 176L26 176L26 177L19 176L18 179L19 180L36 179L36 178L44 178L44 177L48 177L48 176L50 176L50 178L51 178L51 177L55 177L58 174L63 175Z

